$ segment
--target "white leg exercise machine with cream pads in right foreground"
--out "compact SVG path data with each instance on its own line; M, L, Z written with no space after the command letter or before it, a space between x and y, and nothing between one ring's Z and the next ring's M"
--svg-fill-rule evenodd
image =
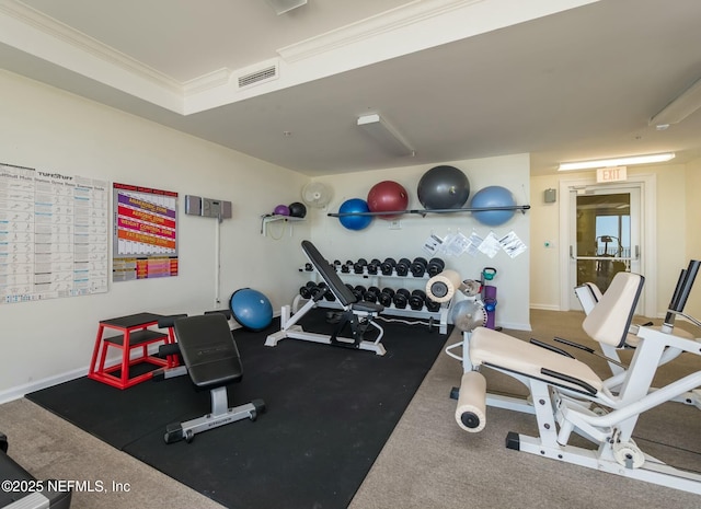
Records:
M673 299L679 309L700 266L692 261L682 271L680 294ZM593 339L619 348L634 333L635 354L614 384L556 347L543 348L496 331L475 328L466 336L462 348L464 373L456 409L458 425L471 432L483 429L486 405L533 414L539 436L509 432L507 448L701 495L701 474L674 468L645 454L632 439L643 412L701 386L700 369L651 391L656 370L667 358L679 352L701 357L701 342L651 326L631 326L643 282L640 275L618 273L583 323ZM485 368L521 382L530 398L519 404L518 398L487 394L481 373ZM573 432L595 448L570 444Z

